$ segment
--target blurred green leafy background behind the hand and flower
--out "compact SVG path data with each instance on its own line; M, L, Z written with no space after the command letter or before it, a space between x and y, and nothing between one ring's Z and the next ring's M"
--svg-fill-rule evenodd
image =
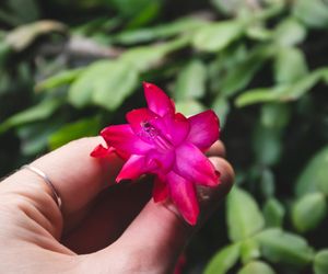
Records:
M3 0L0 175L121 123L154 82L218 113L236 169L185 272L328 273L327 32L325 0Z

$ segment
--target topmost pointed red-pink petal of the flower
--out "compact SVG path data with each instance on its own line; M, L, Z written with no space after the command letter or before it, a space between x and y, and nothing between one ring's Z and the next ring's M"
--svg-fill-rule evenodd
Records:
M160 116L175 113L174 102L159 87L143 82L144 96L149 109Z

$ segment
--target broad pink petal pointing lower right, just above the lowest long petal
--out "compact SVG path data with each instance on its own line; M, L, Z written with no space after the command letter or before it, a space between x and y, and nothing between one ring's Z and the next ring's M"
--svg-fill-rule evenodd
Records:
M192 144L186 142L176 149L174 170L186 180L207 186L219 184L219 173L210 160Z

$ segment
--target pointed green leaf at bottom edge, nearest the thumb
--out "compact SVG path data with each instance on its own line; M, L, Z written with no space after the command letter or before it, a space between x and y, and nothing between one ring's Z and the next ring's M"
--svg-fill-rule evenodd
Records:
M204 274L225 274L237 262L239 243L234 243L220 250L209 262Z

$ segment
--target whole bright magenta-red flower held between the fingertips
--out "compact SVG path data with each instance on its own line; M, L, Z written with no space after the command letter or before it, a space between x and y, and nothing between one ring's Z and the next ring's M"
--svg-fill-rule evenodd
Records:
M153 198L171 198L185 220L196 225L199 215L196 185L216 186L219 172L203 155L219 138L213 111L185 117L156 85L143 83L148 107L127 114L128 124L104 128L107 148L97 146L91 156L106 158L115 151L126 160L116 181L155 175Z

